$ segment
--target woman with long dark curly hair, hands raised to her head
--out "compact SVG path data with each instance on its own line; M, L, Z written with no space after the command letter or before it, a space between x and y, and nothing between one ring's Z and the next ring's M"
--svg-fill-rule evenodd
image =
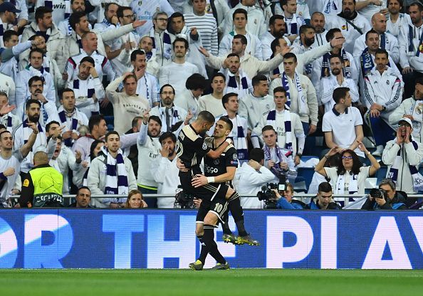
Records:
M322 176L330 179L334 191L333 194L365 194L365 181L367 177L372 176L380 169L380 164L375 157L367 151L362 142L359 143L359 149L367 155L371 166L362 166L357 154L351 149L340 151L340 147L333 147L329 150L325 157L320 159L320 162L315 166L317 171ZM338 167L324 166L326 159L340 153L340 162Z

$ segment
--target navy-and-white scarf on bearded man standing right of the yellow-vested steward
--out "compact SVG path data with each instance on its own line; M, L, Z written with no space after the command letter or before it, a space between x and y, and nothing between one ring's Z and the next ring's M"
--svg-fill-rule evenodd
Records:
M119 149L113 158L106 147L103 147L106 162L106 178L104 194L127 194L127 172L123 161L122 150Z

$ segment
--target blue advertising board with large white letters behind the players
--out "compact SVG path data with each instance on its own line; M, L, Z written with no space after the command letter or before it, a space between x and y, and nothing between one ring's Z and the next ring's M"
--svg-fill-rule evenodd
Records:
M2 210L0 268L187 268L200 248L195 214ZM423 268L422 211L246 211L245 217L261 245L218 241L232 268ZM214 263L208 258L206 267Z

